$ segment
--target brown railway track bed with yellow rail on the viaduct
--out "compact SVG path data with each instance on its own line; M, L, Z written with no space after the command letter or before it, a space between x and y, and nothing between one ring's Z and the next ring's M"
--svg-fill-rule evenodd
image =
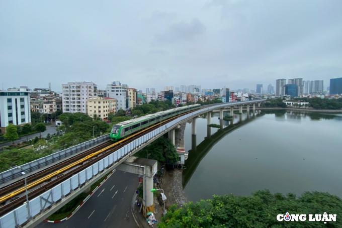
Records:
M108 145L108 146L104 146L104 144L99 145L99 147L102 146L102 149L100 149L100 150L97 149L98 151L96 151L96 149L93 148L92 150L90 150L92 152L87 151L88 152L87 154L84 154L85 152L83 152L82 154L80 154L77 157L78 160L75 158L75 159L73 159L73 162L71 162L71 161L66 162L67 160L63 161L63 162L66 162L66 163L64 163L64 165L56 164L56 166L58 165L58 168L55 166L52 166L52 167L49 167L47 169L42 170L41 171L42 173L39 172L40 174L37 176L35 176L35 174L30 175L30 177L32 176L32 179L30 179L31 182L28 181L28 184L27 184L28 188L38 186L39 184L42 184L42 185L38 186L36 189L29 189L28 197L30 199L32 199L32 198L42 194L43 192L47 191L51 187L63 182L64 180L68 179L72 175L74 175L74 174L82 171L83 169L93 165L94 163L100 161L101 159L105 158L106 156L113 153L114 151L120 149L124 145L132 142L133 140L135 140L137 138L139 138L141 135L146 134L148 132L151 132L154 129L160 127L161 125L166 124L170 121L173 121L174 119L181 117L183 115L186 115L188 113L191 113L193 111L194 110L182 113L182 115L178 115L176 117L170 118L168 120L165 120L163 122L160 122L158 124L150 126L146 129L143 129L140 132L135 133L135 134L133 134L127 138L124 138L124 139L122 139L116 143L111 142L111 145ZM50 173L50 174L48 174L48 173ZM44 177L44 175L45 175L45 177ZM33 177L33 176L35 176L35 177ZM46 181L49 181L49 182L46 183ZM25 195L18 197L18 195L20 193L25 191L25 186L23 187L24 181L19 180L18 182L13 183L12 185L13 185L13 187L6 186L6 187L9 187L8 189L12 189L12 190L7 190L7 194L4 194L2 192L3 196L0 197L1 202L9 201L7 204L5 204L5 205L3 204L3 206L0 207L0 216L8 213L9 211L17 208L18 206L20 206L24 202L26 202L26 196ZM22 187L20 187L20 186L22 186ZM19 187L19 189L18 189L18 187ZM3 188L3 189L5 190L5 188ZM17 190L13 191L13 189L16 189L16 188L17 188ZM12 191L12 193L11 193L11 191ZM15 197L17 197L17 198L15 198Z

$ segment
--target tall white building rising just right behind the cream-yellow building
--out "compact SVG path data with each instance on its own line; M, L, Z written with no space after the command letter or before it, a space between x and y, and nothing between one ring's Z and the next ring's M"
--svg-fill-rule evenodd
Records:
M126 90L119 81L113 81L107 85L107 96L116 99L116 111L119 109L126 110Z

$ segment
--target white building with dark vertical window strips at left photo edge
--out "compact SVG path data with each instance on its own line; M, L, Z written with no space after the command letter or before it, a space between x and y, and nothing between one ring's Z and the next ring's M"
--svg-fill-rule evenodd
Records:
M31 123L30 95L24 91L0 91L0 133L9 124Z

